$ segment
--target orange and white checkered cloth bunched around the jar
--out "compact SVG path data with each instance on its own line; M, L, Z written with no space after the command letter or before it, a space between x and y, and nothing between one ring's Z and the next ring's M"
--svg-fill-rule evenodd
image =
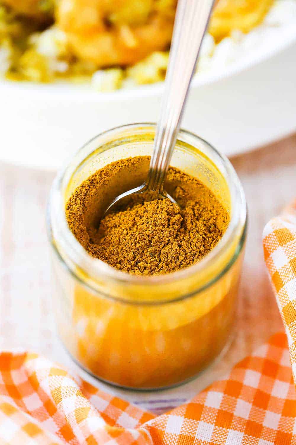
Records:
M223 380L158 417L37 354L2 352L0 444L296 444L296 212L265 227L264 255L288 343L284 333L272 336Z

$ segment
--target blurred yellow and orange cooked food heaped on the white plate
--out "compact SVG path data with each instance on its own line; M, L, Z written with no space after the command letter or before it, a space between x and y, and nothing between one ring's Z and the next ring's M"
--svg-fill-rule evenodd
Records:
M218 0L197 70L213 67L216 52L228 57L233 42L287 4L296 0ZM99 91L162 81L176 5L177 0L0 0L0 76L88 82Z

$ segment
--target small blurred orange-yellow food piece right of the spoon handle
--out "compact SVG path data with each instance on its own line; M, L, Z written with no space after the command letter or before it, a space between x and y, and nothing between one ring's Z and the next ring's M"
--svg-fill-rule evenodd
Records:
M262 22L272 3L273 0L219 0L213 10L209 33L219 41L233 29L249 32Z

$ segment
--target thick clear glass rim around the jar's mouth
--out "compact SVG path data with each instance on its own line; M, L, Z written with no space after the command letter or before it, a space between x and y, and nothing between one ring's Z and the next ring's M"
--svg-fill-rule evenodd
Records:
M83 283L86 287L91 288L92 291L97 292L95 286L92 286L89 282L83 281L77 273L75 273L75 266L78 264L79 269L85 272L85 275L88 277L100 277L103 276L104 279L108 279L111 282L118 283L120 285L141 285L141 286L154 286L154 285L166 285L169 283L172 283L177 280L182 280L190 275L196 275L199 272L205 270L208 265L211 262L214 262L219 256L222 254L222 251L225 251L227 249L228 243L234 239L234 237L237 235L238 231L240 231L240 237L238 240L238 246L239 249L235 250L233 253L232 258L229 259L229 262L225 264L225 267L222 268L220 273L216 275L213 279L209 279L205 285L202 285L201 287L197 288L194 291L194 294L198 293L201 290L204 290L205 288L209 287L213 281L216 281L219 279L222 275L226 273L226 271L229 269L229 267L234 262L235 258L241 251L241 247L243 245L244 239L245 239L245 231L246 231L246 218L247 218L247 209L246 209L246 201L245 201L245 194L243 191L243 188L241 186L241 182L237 176L237 173L235 172L231 162L226 158L224 154L221 154L216 148L214 148L209 142L205 141L205 139L197 136L196 134L180 129L178 133L178 138L176 145L178 143L178 140L180 137L184 138L190 138L196 141L196 143L201 142L209 150L212 151L212 153L215 155L217 159L221 162L221 166L223 167L223 172L221 174L225 178L227 185L229 187L229 193L231 198L231 207L232 207L232 215L229 221L229 225L222 236L221 240L217 245L200 261L197 263L192 264L189 267L186 267L185 269L181 269L178 271L174 271L168 274L163 275L150 275L150 276L142 276L142 275L132 275L127 272L119 271L118 269L115 269L114 267L110 266L109 264L103 262L100 259L92 257L78 242L78 240L75 238L74 234L71 232L67 219L65 214L65 207L64 207L64 201L63 201L63 194L62 194L62 187L65 183L69 182L72 174L77 171L79 166L86 160L88 156L93 153L94 150L91 150L87 155L83 153L83 151L92 143L95 142L96 139L104 136L111 135L112 133L116 133L118 131L122 132L125 130L136 130L136 129L149 129L149 130L155 130L156 124L154 123L135 123L135 124L128 124L128 125L121 125L118 127L114 127L112 129L106 130L98 135L96 135L94 138L91 138L88 142L86 142L76 153L74 156L71 157L70 161L67 162L58 172L56 175L54 182L51 187L49 202L48 202L48 212L47 212L47 230L48 230L48 236L50 243L52 247L55 250L55 253L59 256L59 258L65 263L67 266L67 269L75 276L76 279L78 279L80 282ZM116 140L116 138L114 139ZM190 146L195 146L192 143L189 143ZM100 145L98 145L100 146ZM97 146L97 148L98 148ZM97 149L96 148L96 149ZM95 149L95 150L96 150ZM82 155L83 154L83 155ZM77 159L76 159L77 158ZM76 160L76 162L75 162ZM216 163L215 163L216 165ZM217 166L217 165L216 165ZM53 235L52 231L52 221L53 219L58 221L59 224L59 246L62 247L63 252L66 252L67 255L67 261L65 259L65 254L63 255L61 253L61 250L57 247L57 244L55 243L55 235ZM89 273L91 271L91 274ZM102 291L100 290L100 295L102 294ZM120 297L114 297L112 295L106 295L106 298L115 299L124 303L133 303L133 304L161 304L161 303L169 303L172 301L178 301L179 299L187 298L189 295L182 295L178 298L172 298L172 299L164 299L164 300L157 300L155 303L153 301L134 301L129 300L125 298Z

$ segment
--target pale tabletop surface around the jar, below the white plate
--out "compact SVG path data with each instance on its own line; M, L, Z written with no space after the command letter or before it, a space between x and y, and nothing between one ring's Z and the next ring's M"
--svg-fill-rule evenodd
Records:
M170 406L199 392L272 333L283 330L264 266L261 236L269 218L295 198L296 134L231 161L244 186L249 210L237 331L220 360L191 383L166 391ZM45 215L53 177L49 172L0 164L0 348L40 352L77 371L57 338L51 305ZM151 393L99 386L144 408L150 406ZM161 392L158 398L154 411L161 412L168 404L161 401Z

